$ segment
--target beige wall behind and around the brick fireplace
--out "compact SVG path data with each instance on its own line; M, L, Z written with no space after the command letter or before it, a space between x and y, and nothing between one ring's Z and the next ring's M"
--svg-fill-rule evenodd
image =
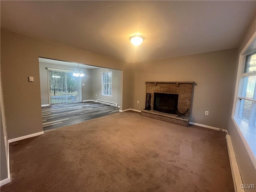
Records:
M134 64L134 109L145 108L145 81L194 81L190 121L226 129L236 56L231 49Z

